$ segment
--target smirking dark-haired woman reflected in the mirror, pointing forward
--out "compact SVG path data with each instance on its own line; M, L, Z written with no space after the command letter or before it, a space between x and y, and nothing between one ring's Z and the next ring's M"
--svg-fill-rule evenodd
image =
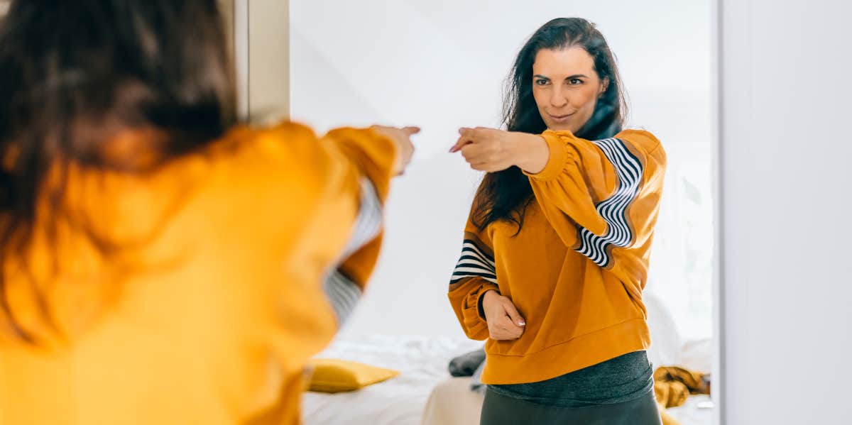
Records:
M551 20L521 49L508 131L461 129L451 149L488 171L449 298L486 342L481 423L659 423L642 289L665 152L623 130L600 32Z

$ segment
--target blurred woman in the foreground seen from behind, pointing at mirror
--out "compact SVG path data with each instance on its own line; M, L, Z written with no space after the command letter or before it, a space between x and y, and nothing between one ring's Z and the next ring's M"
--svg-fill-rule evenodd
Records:
M296 423L417 129L235 124L216 0L0 24L0 423Z

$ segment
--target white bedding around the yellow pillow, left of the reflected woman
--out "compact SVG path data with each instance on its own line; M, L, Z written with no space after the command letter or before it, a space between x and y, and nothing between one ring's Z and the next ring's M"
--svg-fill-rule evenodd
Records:
M400 376L353 393L306 393L302 420L305 425L420 425L432 388L449 377L450 359L482 345L423 336L366 336L333 342L317 357L400 370Z

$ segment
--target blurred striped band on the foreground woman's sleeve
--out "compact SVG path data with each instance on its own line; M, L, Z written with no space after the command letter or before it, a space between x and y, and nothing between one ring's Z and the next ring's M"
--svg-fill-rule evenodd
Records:
M378 198L376 188L366 178L361 179L360 202L358 218L355 220L352 236L349 238L341 257L344 260L370 243L382 230L382 203ZM325 278L323 287L325 296L328 296L331 307L337 314L337 323L343 324L343 321L348 318L349 313L352 313L355 304L361 297L361 287L337 270L340 262L342 261L338 261L338 265Z

